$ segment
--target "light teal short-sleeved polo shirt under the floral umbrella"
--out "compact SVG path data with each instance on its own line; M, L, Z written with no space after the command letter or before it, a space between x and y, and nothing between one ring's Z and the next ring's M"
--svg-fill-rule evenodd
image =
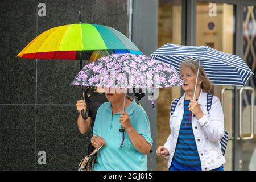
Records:
M125 110L129 114L131 126L152 145L150 123L144 109L133 100ZM98 151L95 171L147 170L147 155L135 149L126 131L125 142L120 149L122 142L122 132L119 132L120 114L121 112L116 113L112 117L110 102L102 104L97 111L93 134L104 138L106 146Z

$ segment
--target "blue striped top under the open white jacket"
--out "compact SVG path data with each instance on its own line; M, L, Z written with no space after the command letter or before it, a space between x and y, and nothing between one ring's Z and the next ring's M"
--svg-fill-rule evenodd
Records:
M190 114L190 111L188 110L189 102L190 100L184 100L184 115L173 159L183 166L201 166L195 136L193 134L191 118L188 119Z

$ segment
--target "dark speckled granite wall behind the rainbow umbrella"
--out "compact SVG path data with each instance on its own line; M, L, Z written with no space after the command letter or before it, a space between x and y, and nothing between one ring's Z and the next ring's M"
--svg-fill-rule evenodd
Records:
M46 4L46 17L38 4ZM63 24L105 24L127 36L127 0L0 1L0 170L75 170L89 144L76 125L79 61L16 55L36 35ZM38 152L46 152L46 165Z

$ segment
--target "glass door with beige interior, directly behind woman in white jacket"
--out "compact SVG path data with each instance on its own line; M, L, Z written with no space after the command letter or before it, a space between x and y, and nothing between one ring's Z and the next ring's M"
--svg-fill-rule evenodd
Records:
M197 1L196 45L207 45L219 51L234 53L235 5ZM225 154L225 170L233 166L234 87L214 85L212 93L222 102L225 130L229 132L228 149Z

